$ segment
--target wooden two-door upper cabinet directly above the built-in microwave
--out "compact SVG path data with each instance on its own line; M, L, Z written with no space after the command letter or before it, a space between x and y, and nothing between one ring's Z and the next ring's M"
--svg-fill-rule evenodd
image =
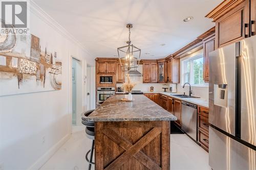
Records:
M116 74L116 60L113 61L96 61L96 71L98 75L108 74L114 75Z

